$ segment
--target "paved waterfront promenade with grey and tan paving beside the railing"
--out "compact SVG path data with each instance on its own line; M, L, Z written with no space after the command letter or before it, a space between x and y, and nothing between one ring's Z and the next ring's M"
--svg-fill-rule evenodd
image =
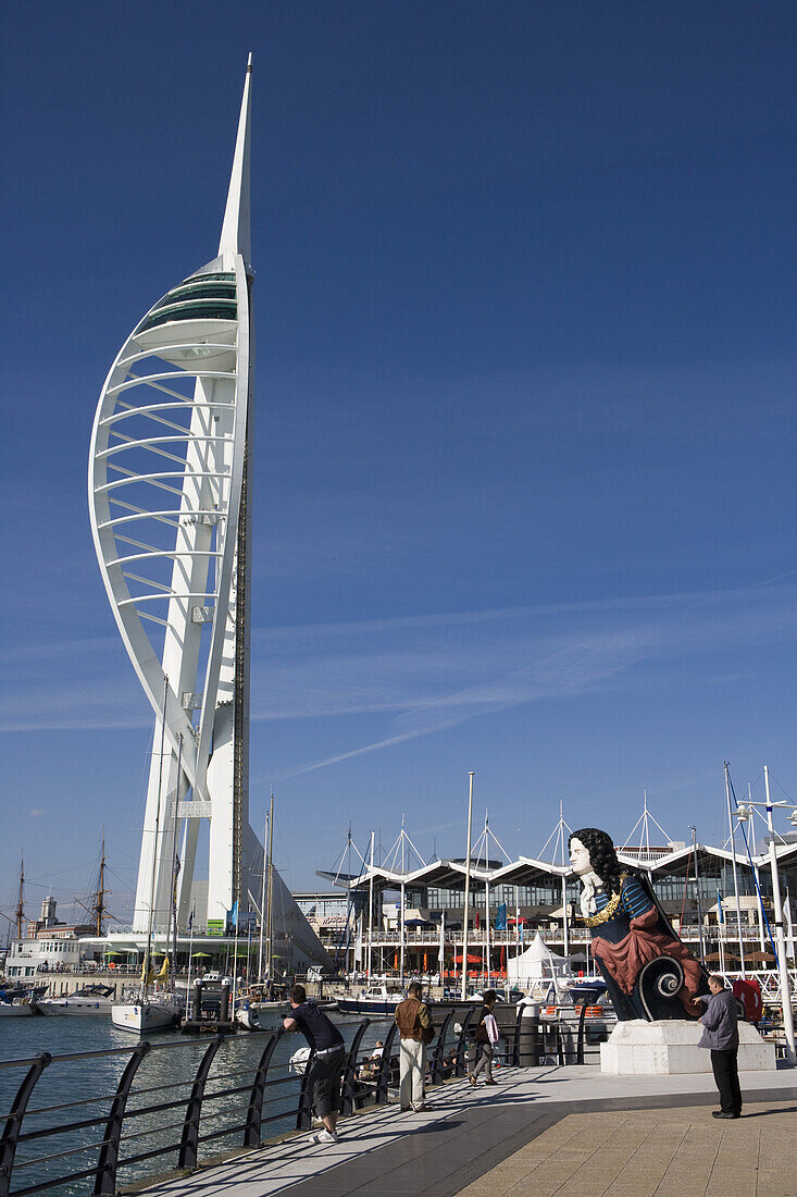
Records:
M499 1070L452 1081L426 1113L367 1108L334 1147L308 1135L148 1197L797 1197L797 1071L742 1074L740 1120L711 1117L713 1080L603 1076L594 1067Z

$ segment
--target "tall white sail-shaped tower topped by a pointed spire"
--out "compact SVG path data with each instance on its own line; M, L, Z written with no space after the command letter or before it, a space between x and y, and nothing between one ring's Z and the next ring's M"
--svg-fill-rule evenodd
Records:
M138 932L168 925L176 822L184 821L182 920L201 820L209 836L200 920L226 923L262 862L248 779L250 86L251 57L219 255L130 333L105 379L91 443L95 547L156 717Z

